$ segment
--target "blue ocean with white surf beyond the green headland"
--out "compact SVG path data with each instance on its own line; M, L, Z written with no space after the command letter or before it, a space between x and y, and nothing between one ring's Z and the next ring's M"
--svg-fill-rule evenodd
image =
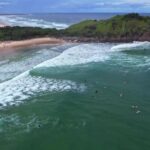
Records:
M0 22L11 26L29 26L41 28L65 29L72 24L84 20L105 20L123 13L47 13L47 14L20 14L0 15ZM150 13L141 14L150 16Z

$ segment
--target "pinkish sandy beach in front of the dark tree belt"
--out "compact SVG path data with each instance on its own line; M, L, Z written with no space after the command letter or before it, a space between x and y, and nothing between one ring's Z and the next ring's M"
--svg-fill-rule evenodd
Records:
M62 39L57 38L34 38L28 40L21 40L21 41L4 41L0 42L0 50L2 49L13 49L13 48L24 48L36 45L43 45L43 44L63 44L65 43Z

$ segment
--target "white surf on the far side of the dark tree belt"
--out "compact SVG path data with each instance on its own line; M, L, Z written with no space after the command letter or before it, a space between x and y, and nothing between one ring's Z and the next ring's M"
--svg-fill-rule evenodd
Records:
M26 27L65 29L69 26L65 23L49 22L43 19L31 19L16 15L0 16L0 20L8 25L21 27L26 26Z

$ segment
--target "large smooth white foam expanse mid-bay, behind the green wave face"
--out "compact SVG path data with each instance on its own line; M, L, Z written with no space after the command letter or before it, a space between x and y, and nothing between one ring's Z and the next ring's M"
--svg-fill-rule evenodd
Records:
M78 65L105 61L109 58L108 49L110 49L110 46L106 46L104 44L82 44L69 48L58 57L45 61L44 63L37 65L35 68Z

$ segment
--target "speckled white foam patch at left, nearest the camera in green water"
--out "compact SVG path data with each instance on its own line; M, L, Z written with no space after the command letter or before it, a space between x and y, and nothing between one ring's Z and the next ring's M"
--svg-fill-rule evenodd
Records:
M29 99L40 93L63 92L63 91L83 92L85 86L69 80L46 79L32 77L29 71L21 76L0 84L0 104L1 106L17 105L23 100Z

